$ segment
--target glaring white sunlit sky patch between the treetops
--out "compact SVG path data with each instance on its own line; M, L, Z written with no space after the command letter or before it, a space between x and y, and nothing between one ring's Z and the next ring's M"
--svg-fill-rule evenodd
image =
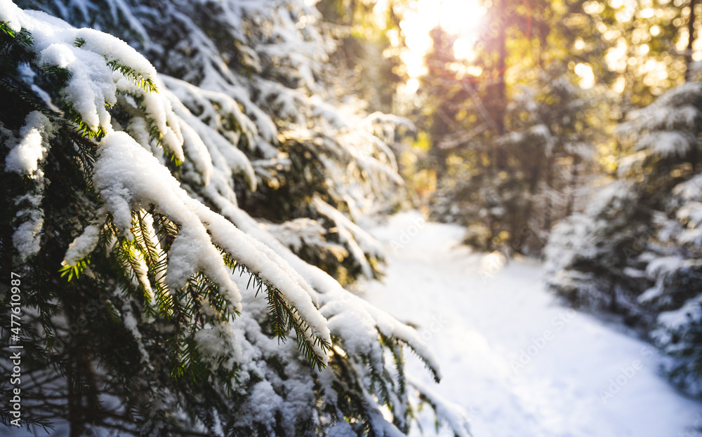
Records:
M423 57L431 48L429 31L437 25L458 35L453 51L457 58L471 60L475 40L486 14L478 0L413 0L400 23L406 38L407 50L401 55L410 79L407 90L419 86L417 78L426 72Z

